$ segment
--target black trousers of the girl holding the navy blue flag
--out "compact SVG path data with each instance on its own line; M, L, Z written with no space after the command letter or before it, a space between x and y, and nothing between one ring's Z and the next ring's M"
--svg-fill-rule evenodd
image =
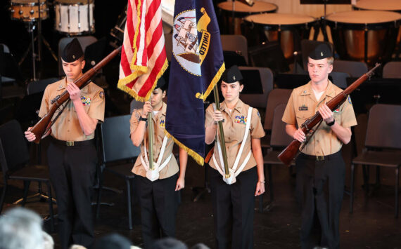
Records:
M256 167L241 172L234 184L225 183L214 168L209 172L216 248L253 248Z

